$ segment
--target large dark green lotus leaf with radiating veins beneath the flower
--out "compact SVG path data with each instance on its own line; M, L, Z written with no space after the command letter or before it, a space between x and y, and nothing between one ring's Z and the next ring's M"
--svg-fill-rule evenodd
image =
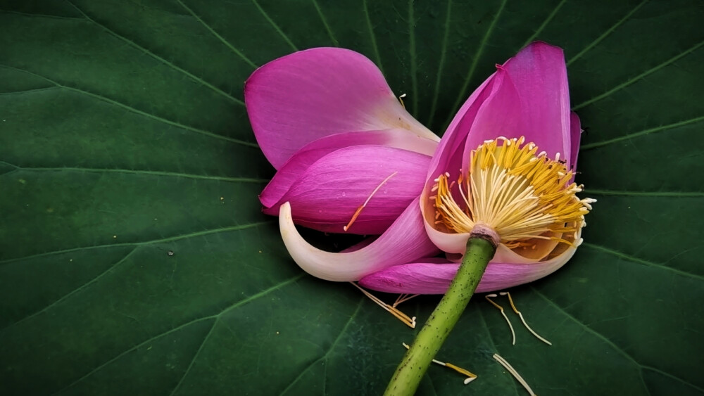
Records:
M0 394L377 395L415 331L291 261L244 80L296 49L382 68L441 134L534 39L562 46L598 198L574 259L474 298L420 395L704 393L700 1L0 1ZM344 94L344 93L341 93ZM336 239L315 235L323 245ZM394 296L382 296L389 302ZM437 297L401 305L422 323ZM504 304L507 306L506 304Z

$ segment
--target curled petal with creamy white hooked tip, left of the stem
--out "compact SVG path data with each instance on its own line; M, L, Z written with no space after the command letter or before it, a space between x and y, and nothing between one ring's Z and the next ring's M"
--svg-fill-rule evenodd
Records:
M279 227L289 254L304 271L328 281L356 281L367 274L438 253L422 226L417 199L382 236L358 250L329 253L314 248L296 231L291 205L281 205Z

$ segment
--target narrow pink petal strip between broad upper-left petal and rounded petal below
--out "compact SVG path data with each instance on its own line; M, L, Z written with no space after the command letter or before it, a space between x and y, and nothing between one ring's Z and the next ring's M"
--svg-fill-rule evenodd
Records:
M408 134L406 129L384 129L382 131L348 132L325 136L308 143L291 157L276 172L272 181L262 191L259 199L265 207L272 207L289 191L291 185L298 180L303 172L323 156L348 146L375 144L402 148L425 155L433 155L437 142L420 136ZM296 205L294 205L296 206ZM277 210L278 212L278 210Z

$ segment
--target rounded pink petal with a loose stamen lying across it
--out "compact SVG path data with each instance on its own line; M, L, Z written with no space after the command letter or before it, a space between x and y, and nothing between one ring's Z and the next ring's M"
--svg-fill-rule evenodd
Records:
M342 233L368 198L347 232L382 234L417 200L429 161L427 155L386 146L341 148L308 166L279 202L264 212L277 215L279 206L290 202L296 224Z

